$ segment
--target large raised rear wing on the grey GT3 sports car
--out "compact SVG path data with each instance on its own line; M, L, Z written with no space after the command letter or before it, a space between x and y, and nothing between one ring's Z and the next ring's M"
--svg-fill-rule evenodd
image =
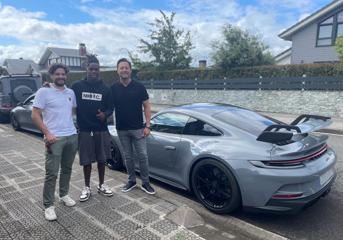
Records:
M298 124L302 119L302 123ZM332 124L330 117L316 115L301 115L290 125L273 124L264 129L257 137L257 141L279 143L291 140L294 135L318 131ZM273 130L273 131L272 131Z

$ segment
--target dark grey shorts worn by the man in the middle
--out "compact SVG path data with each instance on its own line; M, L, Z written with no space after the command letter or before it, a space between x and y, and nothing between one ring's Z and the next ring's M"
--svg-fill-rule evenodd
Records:
M78 151L80 165L104 163L111 159L111 142L109 131L79 132Z

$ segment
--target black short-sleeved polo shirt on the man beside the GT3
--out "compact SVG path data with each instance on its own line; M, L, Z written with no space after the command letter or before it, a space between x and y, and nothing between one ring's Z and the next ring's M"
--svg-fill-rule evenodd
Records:
M137 130L143 128L142 101L149 99L145 86L131 79L126 87L120 80L110 86L116 113L117 130Z

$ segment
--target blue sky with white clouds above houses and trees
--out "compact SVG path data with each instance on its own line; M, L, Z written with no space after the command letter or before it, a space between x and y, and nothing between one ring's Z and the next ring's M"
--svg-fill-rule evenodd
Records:
M136 37L146 38L149 26L176 12L179 27L197 31L194 41L198 60L210 62L208 43L220 37L218 28L230 22L258 33L276 55L291 46L277 35L284 29L331 2L330 0L0 0L0 62L5 58L33 59L38 62L48 46L77 48L100 54L103 65L115 65L135 51ZM148 59L141 55L142 59Z

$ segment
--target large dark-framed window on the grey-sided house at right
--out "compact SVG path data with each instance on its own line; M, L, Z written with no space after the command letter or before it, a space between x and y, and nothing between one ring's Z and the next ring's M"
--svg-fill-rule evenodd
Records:
M334 46L337 36L343 32L343 11L318 24L317 47Z

